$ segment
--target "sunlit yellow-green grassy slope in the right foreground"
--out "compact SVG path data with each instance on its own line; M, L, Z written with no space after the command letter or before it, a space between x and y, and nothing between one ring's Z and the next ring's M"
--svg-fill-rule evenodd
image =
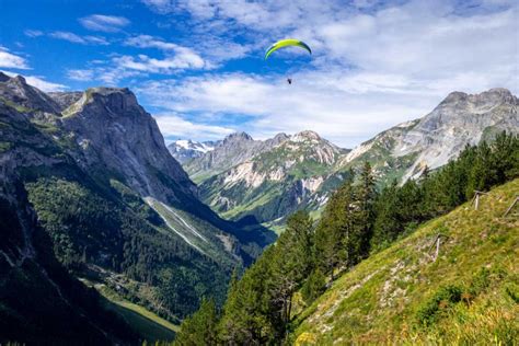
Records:
M503 214L518 193L519 180L495 188L481 199L480 210L464 204L344 274L296 318L296 344L517 341L518 206L515 216ZM435 262L429 249L438 233L449 238ZM466 303L440 307L432 326L417 322L417 311L441 287L457 285L466 292L483 267L491 272L486 289Z

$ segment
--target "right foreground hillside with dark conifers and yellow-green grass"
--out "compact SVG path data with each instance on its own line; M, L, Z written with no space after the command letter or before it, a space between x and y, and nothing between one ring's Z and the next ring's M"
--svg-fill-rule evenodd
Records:
M351 174L331 197L316 224L304 211L288 219L277 243L231 282L218 323L210 324L212 333L207 334L209 324L200 319L207 311L186 320L178 332L182 345L192 345L187 341L199 339L199 333L210 335L207 344L245 345L450 339L441 331L447 311L463 304L470 310L485 297L488 304L483 307L488 309L517 299L512 261L518 224L496 217L519 192L519 182L514 181L518 176L519 138L506 134L492 145L465 148L458 160L426 172L417 182L382 191L377 191L366 162L360 175ZM445 216L470 200L475 189L488 191L509 181L514 182L484 197L489 211L480 209L473 216L465 205ZM499 200L495 209L492 200ZM438 258L429 254L435 237L443 242ZM365 267L369 270L360 272ZM434 275L427 277L428 270ZM505 289L508 298L494 299L495 287L499 292ZM407 292L416 296L407 298ZM496 312L503 312L503 319L496 319L504 325L496 322L489 324L492 331L474 331L486 339L514 341L517 325L508 322L516 308L508 307ZM460 333L470 334L463 324L470 319L483 323L468 313L466 320L458 320ZM400 338L391 328L408 334Z

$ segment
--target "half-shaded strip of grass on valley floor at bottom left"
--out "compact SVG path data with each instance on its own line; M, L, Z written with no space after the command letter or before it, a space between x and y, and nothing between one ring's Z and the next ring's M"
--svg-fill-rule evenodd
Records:
M105 286L99 289L106 298L106 308L120 315L143 339L149 342L172 341L178 326L153 312L129 302Z

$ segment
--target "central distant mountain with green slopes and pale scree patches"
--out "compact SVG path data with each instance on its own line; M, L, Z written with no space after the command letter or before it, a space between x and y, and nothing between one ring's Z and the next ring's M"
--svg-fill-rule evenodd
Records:
M199 185L203 199L221 215L270 222L302 206L319 208L328 172L348 152L314 131L278 135L262 145L247 160Z

